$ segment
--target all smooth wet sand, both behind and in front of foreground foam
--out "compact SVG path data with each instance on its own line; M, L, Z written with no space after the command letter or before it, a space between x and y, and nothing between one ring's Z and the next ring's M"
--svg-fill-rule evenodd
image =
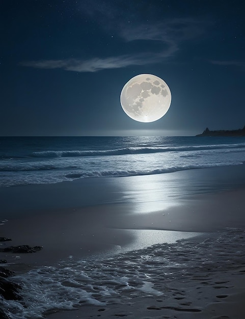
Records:
M39 267L70 256L107 258L157 243L211 236L227 227L245 229L243 171L242 165L1 189L1 219L8 219L0 226L1 236L13 239L2 247L42 245L43 250L0 253L0 259ZM168 288L172 297L146 295L132 298L131 304L115 299L104 307L86 305L48 317L242 319L244 274L245 265L234 263L226 272L197 273L198 280L173 280Z

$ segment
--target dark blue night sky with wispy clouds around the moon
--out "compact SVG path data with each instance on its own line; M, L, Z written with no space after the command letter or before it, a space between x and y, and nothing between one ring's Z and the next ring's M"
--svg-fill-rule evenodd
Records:
M245 125L243 0L1 0L0 135L195 135ZM120 105L155 74L172 103L156 122Z

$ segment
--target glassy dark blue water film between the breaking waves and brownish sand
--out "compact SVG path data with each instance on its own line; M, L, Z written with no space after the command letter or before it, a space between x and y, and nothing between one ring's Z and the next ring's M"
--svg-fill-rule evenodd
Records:
M173 201L192 195L245 188L244 180L245 162L163 174L87 177L50 184L0 187L0 220L106 203Z

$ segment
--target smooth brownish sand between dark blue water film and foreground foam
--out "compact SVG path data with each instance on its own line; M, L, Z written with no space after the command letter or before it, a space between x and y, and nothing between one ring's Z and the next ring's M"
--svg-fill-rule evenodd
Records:
M1 236L10 237L12 241L2 243L2 247L30 245L43 246L43 249L34 254L0 252L0 259L31 263L36 267L51 265L69 256L110 256L227 227L245 229L244 208L240 204L244 196L245 188L191 196L172 206L167 201L164 208L141 214L139 203L136 207L111 204L48 211L41 216L9 220L0 226Z

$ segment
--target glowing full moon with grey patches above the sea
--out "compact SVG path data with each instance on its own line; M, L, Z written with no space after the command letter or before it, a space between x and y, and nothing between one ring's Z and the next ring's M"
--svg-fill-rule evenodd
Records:
M131 119L154 122L168 112L171 92L167 83L160 77L139 74L125 84L120 100L123 111Z

